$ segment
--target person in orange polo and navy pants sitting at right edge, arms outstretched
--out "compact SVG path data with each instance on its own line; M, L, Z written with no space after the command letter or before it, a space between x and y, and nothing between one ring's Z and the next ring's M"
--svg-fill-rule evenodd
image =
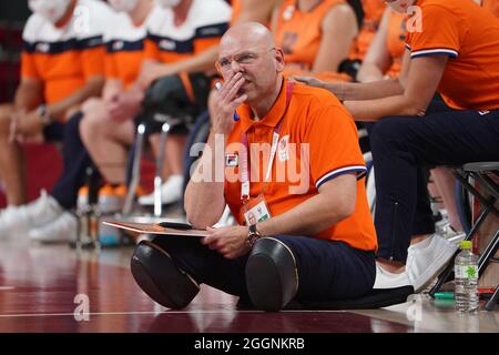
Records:
M378 121L376 170L379 251L375 287L421 291L456 251L434 234L421 166L499 160L499 20L469 0L395 0L408 11L398 79L324 83L360 121ZM432 101L439 92L446 104ZM428 237L432 236L432 237ZM410 241L418 242L409 246Z

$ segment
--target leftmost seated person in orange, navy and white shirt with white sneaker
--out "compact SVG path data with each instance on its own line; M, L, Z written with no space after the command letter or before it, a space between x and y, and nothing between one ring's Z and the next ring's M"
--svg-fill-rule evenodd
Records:
M61 213L47 194L26 203L24 141L62 141L71 136L64 124L104 82L102 36L111 10L91 0L31 0L24 26L21 83L13 105L0 109L0 174L8 209L0 214L0 236L44 224ZM47 211L44 219L34 217Z

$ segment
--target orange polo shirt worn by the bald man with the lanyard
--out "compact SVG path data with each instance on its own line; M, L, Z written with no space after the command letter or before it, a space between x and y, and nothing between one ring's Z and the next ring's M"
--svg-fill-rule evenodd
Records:
M225 149L224 195L240 224L245 223L241 201L241 151L243 133L247 138L249 164L249 205L261 193L272 216L279 215L318 194L320 185L345 173L357 175L355 212L335 225L310 235L343 241L353 247L374 251L376 232L367 203L366 168L358 145L357 129L352 115L328 91L296 83L287 101L287 80L271 111L261 120L252 120L252 110L237 109L240 120L227 138ZM263 190L274 130L279 139L269 180ZM258 150L262 149L259 154ZM257 156L263 159L256 159ZM230 162L230 163L227 163ZM231 163L232 162L232 163ZM265 168L265 170L264 170Z

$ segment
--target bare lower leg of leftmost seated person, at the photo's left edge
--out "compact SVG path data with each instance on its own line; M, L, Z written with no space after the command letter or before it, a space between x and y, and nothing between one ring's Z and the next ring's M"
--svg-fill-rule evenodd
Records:
M24 159L17 142L9 142L12 105L0 105L0 178L6 185L8 205L27 202Z

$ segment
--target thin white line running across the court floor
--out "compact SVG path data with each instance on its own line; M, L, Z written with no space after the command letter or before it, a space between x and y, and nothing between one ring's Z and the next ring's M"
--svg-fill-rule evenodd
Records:
M281 313L339 313L348 311L281 311ZM77 313L79 316L83 315L129 315L129 314L216 314L216 313L266 313L264 311L136 311L136 312L95 312L95 313ZM74 316L74 313L26 313L26 314L0 314L0 318L13 318L13 317L51 317L51 316Z

